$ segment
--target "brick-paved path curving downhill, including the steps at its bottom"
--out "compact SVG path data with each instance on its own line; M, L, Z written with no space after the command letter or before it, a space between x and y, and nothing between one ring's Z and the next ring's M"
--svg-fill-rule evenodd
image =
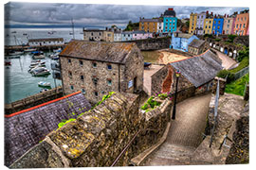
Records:
M202 142L210 97L209 93L177 104L176 119L172 122L166 142L143 165L191 164L190 157Z

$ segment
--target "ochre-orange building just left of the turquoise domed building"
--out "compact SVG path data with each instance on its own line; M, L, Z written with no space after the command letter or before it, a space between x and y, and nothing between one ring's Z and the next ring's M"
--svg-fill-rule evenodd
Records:
M145 32L157 32L157 25L161 21L156 19L144 19L139 18L139 30L144 30Z

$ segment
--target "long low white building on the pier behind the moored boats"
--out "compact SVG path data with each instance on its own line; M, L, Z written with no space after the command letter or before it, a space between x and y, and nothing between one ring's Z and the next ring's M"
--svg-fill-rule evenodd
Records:
M47 38L47 39L29 39L29 46L49 46L49 45L63 45L63 38Z

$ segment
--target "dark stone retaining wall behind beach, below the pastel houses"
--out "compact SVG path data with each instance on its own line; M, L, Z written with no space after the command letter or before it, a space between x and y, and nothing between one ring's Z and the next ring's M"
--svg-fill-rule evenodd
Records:
M136 42L137 47L140 50L158 50L169 48L171 44L170 38L157 38L157 39L145 39L145 40L135 40L130 42Z

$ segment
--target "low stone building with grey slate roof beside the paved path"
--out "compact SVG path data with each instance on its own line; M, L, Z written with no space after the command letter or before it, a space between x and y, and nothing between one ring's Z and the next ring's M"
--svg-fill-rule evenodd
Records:
M211 92L214 77L222 70L221 64L221 59L210 49L199 56L171 62L152 76L151 93L175 93L177 70L180 72L178 101Z

